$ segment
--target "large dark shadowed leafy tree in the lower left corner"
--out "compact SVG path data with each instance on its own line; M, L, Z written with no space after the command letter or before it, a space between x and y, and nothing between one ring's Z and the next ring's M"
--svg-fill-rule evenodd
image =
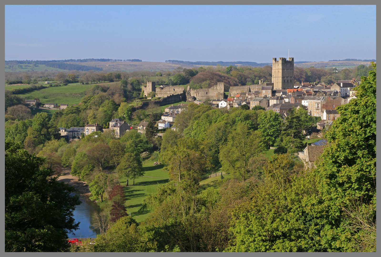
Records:
M44 158L30 155L19 143L5 143L5 251L67 251L68 233L78 228L73 211L80 204L74 188L51 169Z

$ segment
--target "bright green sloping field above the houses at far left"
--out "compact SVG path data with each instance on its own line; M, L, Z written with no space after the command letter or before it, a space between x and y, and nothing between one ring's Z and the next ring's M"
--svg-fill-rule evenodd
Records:
M81 99L85 97L85 91L92 88L94 85L67 85L56 86L40 90L35 90L19 96L25 99L40 99L40 102L54 104L79 104ZM68 93L70 92L70 93Z

